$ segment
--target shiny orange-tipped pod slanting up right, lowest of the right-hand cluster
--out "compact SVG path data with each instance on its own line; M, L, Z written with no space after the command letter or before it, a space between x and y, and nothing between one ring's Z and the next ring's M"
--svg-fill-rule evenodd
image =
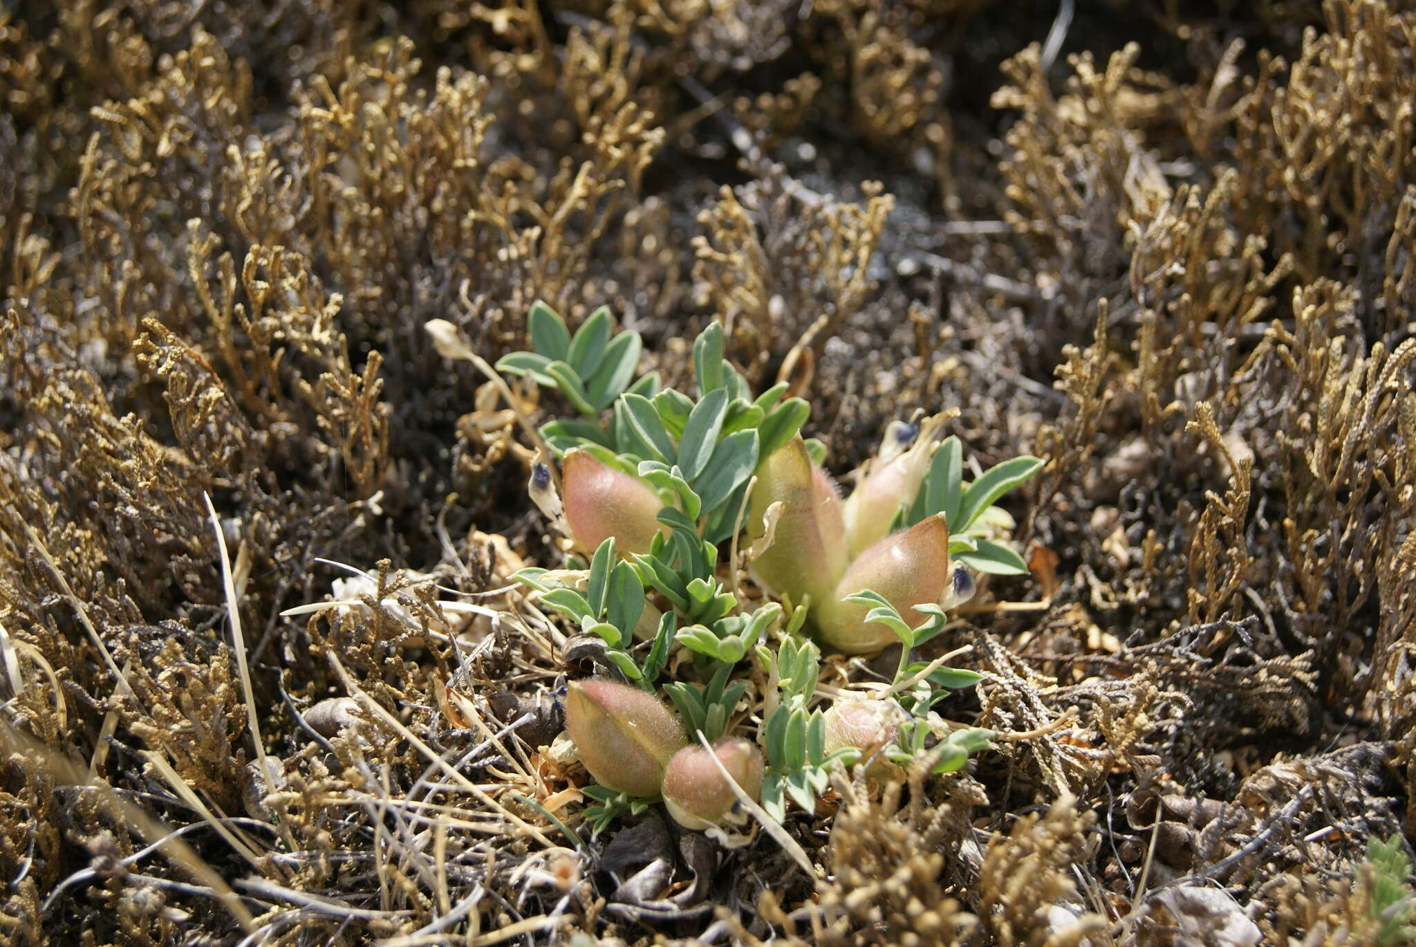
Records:
M868 622L869 605L844 601L847 595L867 588L879 593L906 624L916 627L926 615L915 605L937 603L952 578L949 526L939 513L886 536L851 563L835 594L813 610L817 637L848 655L878 651L896 641L895 632L882 622Z

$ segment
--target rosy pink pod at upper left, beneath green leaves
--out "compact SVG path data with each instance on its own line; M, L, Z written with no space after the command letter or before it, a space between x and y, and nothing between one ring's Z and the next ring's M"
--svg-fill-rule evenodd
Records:
M649 485L572 449L561 461L561 493L571 536L588 553L610 536L622 554L649 553L654 534L667 527L656 517L664 502Z

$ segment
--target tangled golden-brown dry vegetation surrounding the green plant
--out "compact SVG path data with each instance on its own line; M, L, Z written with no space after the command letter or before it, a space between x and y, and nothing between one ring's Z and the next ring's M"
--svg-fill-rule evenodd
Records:
M1416 13L1076 6L0 7L0 938L1405 943ZM1046 458L997 750L592 839L537 298Z

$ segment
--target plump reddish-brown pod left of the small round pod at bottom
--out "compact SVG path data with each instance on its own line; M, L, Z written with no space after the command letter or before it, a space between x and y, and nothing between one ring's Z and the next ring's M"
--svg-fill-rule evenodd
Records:
M630 795L658 795L664 764L688 741L666 703L613 680L572 680L565 729L595 781Z

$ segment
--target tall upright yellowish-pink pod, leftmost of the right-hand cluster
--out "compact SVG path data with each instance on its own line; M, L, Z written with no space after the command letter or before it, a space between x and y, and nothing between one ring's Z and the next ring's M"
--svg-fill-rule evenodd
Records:
M782 503L772 544L755 560L753 578L776 595L821 603L845 571L841 500L830 478L806 452L800 437L777 448L758 471L748 510L748 533L766 532L767 508Z

